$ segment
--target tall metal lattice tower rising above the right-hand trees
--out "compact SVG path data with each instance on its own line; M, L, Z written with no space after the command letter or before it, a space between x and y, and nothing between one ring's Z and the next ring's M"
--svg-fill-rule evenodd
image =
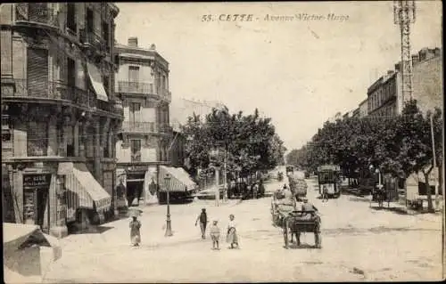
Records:
M402 102L412 99L412 56L410 53L410 24L416 20L415 0L393 1L393 22L401 30Z

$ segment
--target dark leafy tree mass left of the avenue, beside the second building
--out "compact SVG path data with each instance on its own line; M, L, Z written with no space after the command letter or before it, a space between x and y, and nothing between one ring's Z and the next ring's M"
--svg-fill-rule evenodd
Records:
M235 171L248 176L273 168L283 161L285 153L271 119L260 118L257 109L248 116L242 111L230 114L226 107L213 109L204 121L194 115L183 127L183 133L189 137L186 155L191 166L221 166L226 153L229 176ZM213 149L221 149L219 155L211 155Z

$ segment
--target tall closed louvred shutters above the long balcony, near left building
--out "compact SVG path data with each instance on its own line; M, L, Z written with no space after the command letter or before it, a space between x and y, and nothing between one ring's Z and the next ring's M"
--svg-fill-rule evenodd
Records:
M48 51L28 49L28 93L32 97L48 96Z

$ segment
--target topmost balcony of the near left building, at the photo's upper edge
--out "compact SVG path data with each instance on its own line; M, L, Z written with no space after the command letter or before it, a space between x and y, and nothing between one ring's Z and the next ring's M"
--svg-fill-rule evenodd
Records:
M45 3L15 4L17 25L38 26L39 28L59 28L58 11L48 8Z

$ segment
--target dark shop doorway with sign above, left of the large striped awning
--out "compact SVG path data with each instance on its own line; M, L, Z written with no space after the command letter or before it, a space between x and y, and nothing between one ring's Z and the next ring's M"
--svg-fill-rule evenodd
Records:
M49 231L49 188L51 174L23 175L23 223L37 224Z

